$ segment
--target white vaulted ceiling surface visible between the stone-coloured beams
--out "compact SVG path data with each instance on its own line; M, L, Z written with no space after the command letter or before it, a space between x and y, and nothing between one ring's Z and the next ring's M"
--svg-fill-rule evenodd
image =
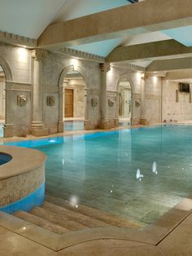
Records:
M37 39L46 26L53 22L71 20L129 4L127 0L0 0L0 30ZM192 46L192 26L143 33L129 38L115 38L72 48L105 57L116 46L131 46L170 38L185 46ZM146 61L140 64L145 67L148 63Z

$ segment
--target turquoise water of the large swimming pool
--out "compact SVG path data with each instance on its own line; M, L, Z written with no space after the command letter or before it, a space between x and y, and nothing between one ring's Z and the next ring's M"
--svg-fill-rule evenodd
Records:
M143 225L153 223L192 192L192 126L7 144L46 153L46 193Z

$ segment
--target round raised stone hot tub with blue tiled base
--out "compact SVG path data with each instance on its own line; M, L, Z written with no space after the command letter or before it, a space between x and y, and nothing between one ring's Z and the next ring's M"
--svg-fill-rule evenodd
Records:
M0 210L31 210L45 199L46 155L31 148L0 146Z

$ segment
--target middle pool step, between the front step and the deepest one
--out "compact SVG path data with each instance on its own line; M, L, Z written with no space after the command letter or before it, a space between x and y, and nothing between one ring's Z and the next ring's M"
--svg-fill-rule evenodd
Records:
M56 214L54 212L51 212L50 210L46 210L41 207L35 207L29 213L36 215L37 217L44 218L47 221L55 223L56 225L59 225L61 227L67 228L70 231L77 231L87 228L87 226L82 225L81 223L76 223L75 221L64 215Z

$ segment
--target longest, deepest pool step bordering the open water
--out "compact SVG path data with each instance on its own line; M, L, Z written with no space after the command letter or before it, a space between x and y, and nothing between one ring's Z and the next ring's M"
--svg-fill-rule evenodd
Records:
M122 218L113 214L108 214L101 210L97 210L85 205L78 205L78 208L70 205L68 201L65 201L59 197L46 195L46 202L50 204L59 205L65 210L71 210L74 213L85 215L91 219L99 220L103 223L107 223L111 226L123 227L123 228L141 228L140 223L133 222L127 218Z

